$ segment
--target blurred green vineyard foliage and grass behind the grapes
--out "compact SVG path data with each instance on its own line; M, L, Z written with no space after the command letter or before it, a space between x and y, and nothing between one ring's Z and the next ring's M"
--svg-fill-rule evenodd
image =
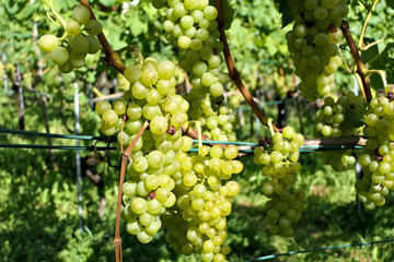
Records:
M283 99L294 88L285 34L280 15L273 1L230 1L235 17L229 34L230 48L247 86L260 100ZM77 1L54 1L57 10L70 15ZM144 56L159 59L176 59L175 51L164 43L158 22L158 11L150 1L124 2L121 0L95 0L97 19L114 49L126 45L138 45ZM0 128L21 129L21 108L18 97L24 98L24 130L69 134L73 130L73 93L77 86L81 106L81 133L100 135L100 119L92 110L91 87L103 93L121 92L125 86L116 72L106 68L96 56L89 61L90 70L80 70L69 75L59 75L48 57L36 48L38 36L50 32L61 34L60 27L46 16L47 1L1 1L0 53L7 78L0 72ZM381 1L367 31L368 41L393 34L393 2ZM264 15L262 15L264 14ZM379 14L379 15L378 15ZM384 15L381 15L384 14ZM358 1L351 1L350 28L357 38L361 31L366 10ZM363 53L367 60L383 49L375 60L385 63L393 57L392 44L378 45ZM349 57L343 46L345 57ZM132 63L131 55L125 53ZM350 59L348 61L351 62ZM394 64L393 64L394 66ZM385 69L393 70L394 67ZM0 70L1 71L1 70ZM346 73L337 76L343 92L352 88L354 79ZM179 73L179 75L182 75ZM394 78L387 71L389 82ZM117 81L118 80L118 81ZM373 86L379 86L376 80ZM43 94L44 93L44 94ZM236 126L240 141L256 141L265 136L259 126L240 98L230 98L234 106L241 103ZM316 105L302 97L287 100L286 120L305 136L313 134L313 118ZM278 116L278 105L262 103L268 116ZM62 116L62 117L60 117ZM301 116L301 117L300 117ZM0 134L1 144L63 144L74 141L27 138ZM91 142L86 143L92 144ZM82 152L82 156L91 155ZM0 148L0 261L113 261L111 245L115 230L115 210L118 170L108 167L104 153L95 171L103 180L97 187L83 177L83 231L78 230L78 198L73 151ZM269 235L264 222L266 198L260 192L260 170L250 157L242 158L245 171L235 179L242 192L233 203L229 221L229 243L232 248L230 261L245 261L259 255L312 249L344 243L355 243L393 238L394 199L387 198L383 209L359 212L357 209L355 171L334 172L324 165L323 153L303 154L303 166L299 183L306 189L308 199L302 219L298 224L294 239ZM328 153L329 154L329 153ZM116 153L111 162L117 164ZM103 213L103 199L106 205ZM159 234L146 246L128 235L121 225L125 261L194 261L175 254ZM292 257L277 261L393 261L392 243L364 248L336 249Z

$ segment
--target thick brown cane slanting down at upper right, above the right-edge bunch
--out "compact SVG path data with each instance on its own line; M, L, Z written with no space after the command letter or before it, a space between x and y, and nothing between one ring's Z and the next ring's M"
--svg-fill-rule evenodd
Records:
M351 33L349 31L349 23L344 20L343 24L340 25L340 29L344 33L346 41L347 41L347 44L350 48L351 55L355 59L355 62L357 66L356 78L357 78L357 81L359 82L362 95L363 95L366 102L370 103L370 100L372 99L372 94L371 94L371 86L369 83L369 79L367 78L368 69L366 68L364 63L362 62L361 56L357 49L355 39L351 36Z

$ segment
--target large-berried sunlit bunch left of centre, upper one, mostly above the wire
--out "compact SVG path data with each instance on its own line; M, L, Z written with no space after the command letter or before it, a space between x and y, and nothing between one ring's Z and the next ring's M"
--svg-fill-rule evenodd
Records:
M150 121L150 131L153 135L161 135L169 129L169 120L175 129L187 122L186 111L189 108L187 100L175 95L176 67L170 61L158 63L153 57L148 57L142 64L129 66L124 75L131 83L130 91L126 92L124 99L111 104L102 100L97 103L96 110L102 115L102 129L105 135L113 135L120 131L124 115L124 144L132 141L141 129L143 121ZM126 100L130 100L129 105ZM137 144L138 145L138 144ZM138 148L138 146L137 146Z

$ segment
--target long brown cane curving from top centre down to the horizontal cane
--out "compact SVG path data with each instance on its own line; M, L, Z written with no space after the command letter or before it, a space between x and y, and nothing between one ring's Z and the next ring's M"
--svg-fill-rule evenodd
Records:
M234 61L231 57L229 44L228 44L225 33L224 33L223 3L221 0L216 0L216 8L218 10L218 19L217 20L218 20L219 29L220 29L220 39L224 46L224 50L223 50L224 59L225 59L225 63L227 63L227 67L229 70L230 78L234 82L236 87L240 90L241 94L243 95L243 97L245 98L245 100L247 102L247 104L250 105L252 110L254 111L254 114L257 116L258 120L264 126L268 127L268 118L264 115L262 109L258 108L257 104L253 99L253 96L251 95L251 93L248 92L248 90L246 88L244 83L242 82L242 80L240 78L240 73L236 70ZM279 128L275 123L273 123L273 127L274 127L275 131L279 130Z

